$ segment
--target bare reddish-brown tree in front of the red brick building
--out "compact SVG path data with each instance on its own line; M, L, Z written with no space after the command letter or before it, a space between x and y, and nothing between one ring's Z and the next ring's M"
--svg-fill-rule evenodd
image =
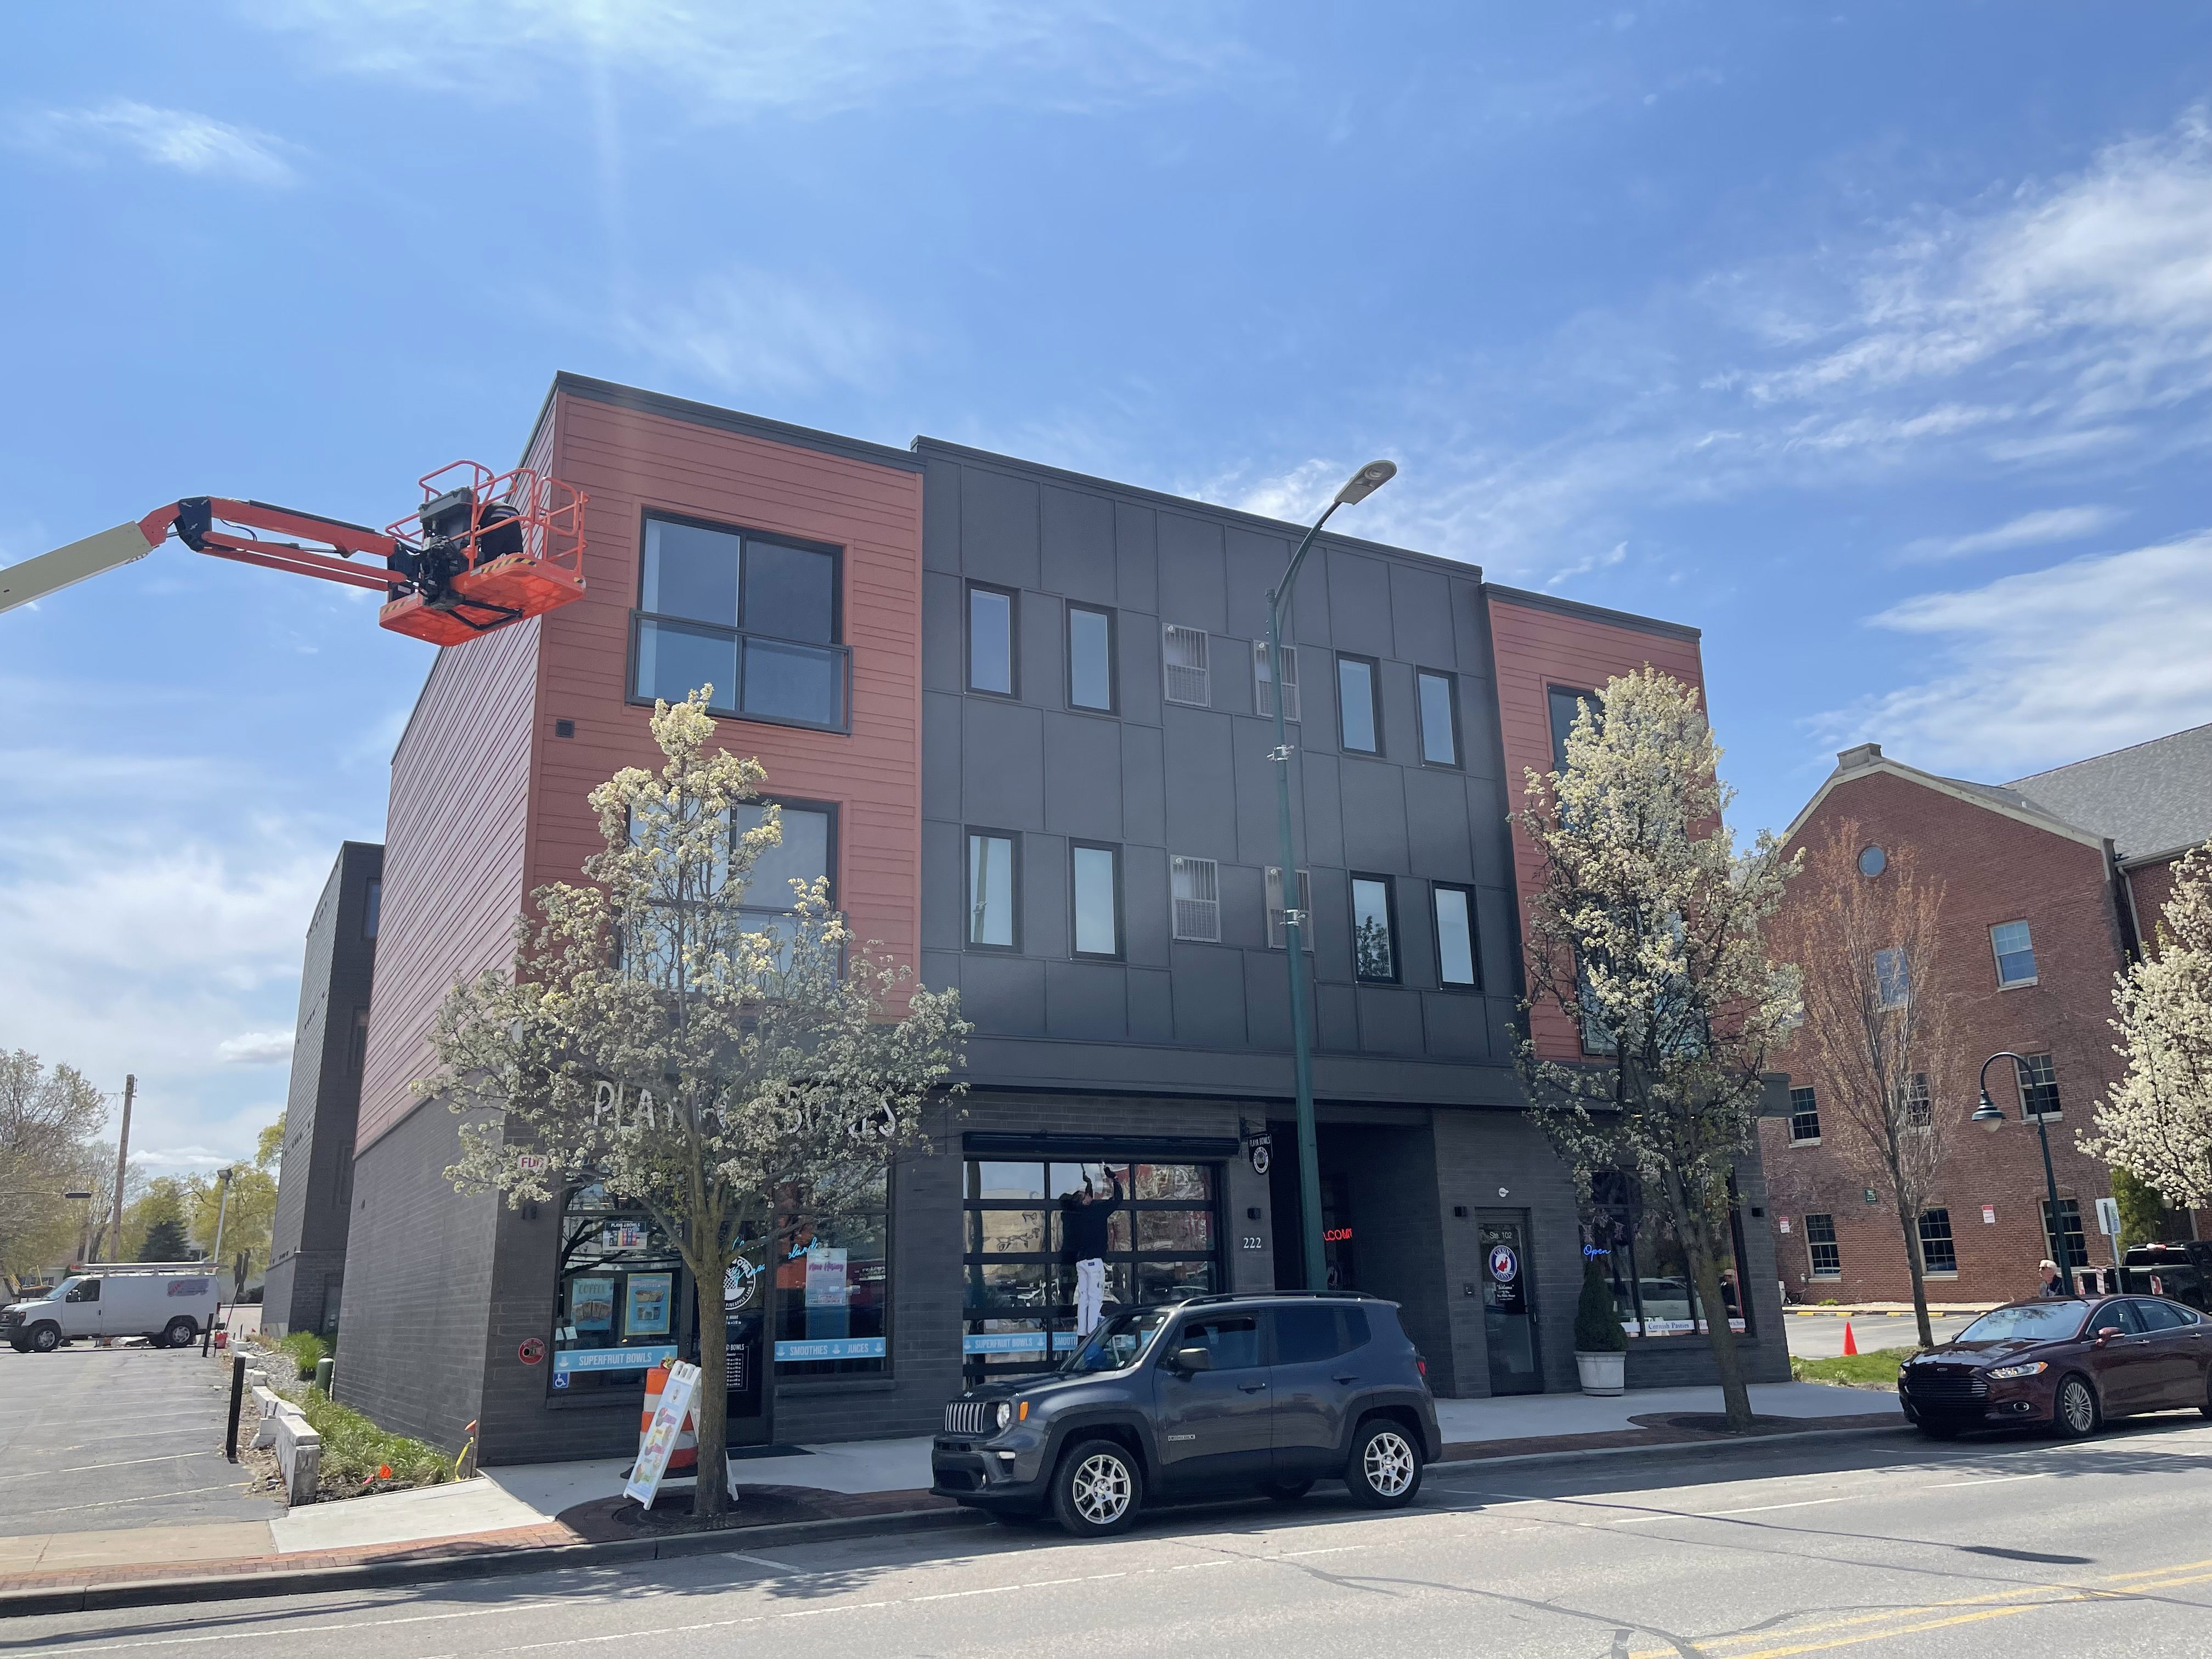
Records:
M1794 894L1785 929L1805 973L1820 1139L1865 1186L1889 1194L1920 1345L1933 1347L1920 1214L1962 1121L1933 1099L1933 1079L1951 1068L1947 1000L1936 991L1942 885L1920 880L1909 852L1865 876L1854 863L1863 845L1856 823L1836 825L1812 858L1818 891Z

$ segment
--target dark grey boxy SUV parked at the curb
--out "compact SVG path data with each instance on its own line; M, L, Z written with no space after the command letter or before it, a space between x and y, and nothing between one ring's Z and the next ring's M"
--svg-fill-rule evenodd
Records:
M1440 1451L1396 1303L1276 1292L1117 1314L1057 1371L947 1405L929 1462L940 1498L1099 1537L1148 1502L1290 1502L1332 1478L1396 1509Z

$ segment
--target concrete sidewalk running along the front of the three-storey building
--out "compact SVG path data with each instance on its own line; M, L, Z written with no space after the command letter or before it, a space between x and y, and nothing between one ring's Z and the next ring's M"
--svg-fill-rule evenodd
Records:
M1641 1447L1719 1440L1710 1431L1679 1429L1677 1416L1717 1413L1719 1389L1646 1389L1599 1400L1582 1394L1528 1394L1493 1400L1438 1400L1444 1460L1526 1455L1588 1455ZM1763 1383L1752 1387L1752 1409L1761 1418L1796 1420L1801 1431L1849 1431L1902 1427L1905 1418L1882 1394L1838 1389L1818 1383ZM1770 1429L1772 1433L1772 1429ZM951 1511L929 1495L929 1438L849 1440L803 1447L790 1455L743 1458L732 1464L739 1482L739 1528L723 1533L730 1546L745 1535L743 1489L761 1489L759 1511L768 1531L787 1531L794 1500L814 1502L816 1513L849 1520L816 1520L812 1526L880 1526L885 1517L920 1517ZM438 1564L509 1551L580 1546L580 1535L560 1515L619 1495L630 1464L551 1462L487 1469L480 1478L447 1486L310 1504L270 1522L201 1526L146 1526L128 1533L55 1533L7 1540L0 1555L0 1613L11 1593L69 1586L117 1586L144 1579L192 1579L195 1586L237 1584L272 1573L363 1566ZM860 1502L874 1515L854 1513ZM896 1502L894 1502L896 1500ZM179 1593L181 1593L179 1584Z

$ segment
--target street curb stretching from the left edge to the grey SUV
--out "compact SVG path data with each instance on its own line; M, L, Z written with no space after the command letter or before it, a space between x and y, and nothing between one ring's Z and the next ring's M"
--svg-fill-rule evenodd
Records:
M396 1584L489 1579L504 1577L509 1573L549 1573L560 1568L613 1566L619 1562L675 1562L688 1555L743 1555L745 1551L770 1548L776 1544L812 1544L830 1537L933 1533L982 1524L989 1524L989 1517L971 1509L905 1509L889 1515L834 1515L818 1522L732 1526L721 1533L619 1537L606 1544L540 1544L535 1548L484 1551L480 1555L372 1559L349 1562L345 1566L241 1573L237 1577L199 1575L124 1579L117 1584L71 1584L55 1586L51 1590L0 1590L0 1619L20 1619L40 1613L155 1608L186 1601L246 1601L270 1595L314 1595L316 1590L374 1590Z

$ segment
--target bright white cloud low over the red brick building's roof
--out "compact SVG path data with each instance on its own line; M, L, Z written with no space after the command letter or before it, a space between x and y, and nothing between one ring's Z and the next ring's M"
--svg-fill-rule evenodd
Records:
M1911 765L2006 779L2212 719L2212 531L1871 622L1929 641L1938 670L1816 717L1827 748L1874 739Z

